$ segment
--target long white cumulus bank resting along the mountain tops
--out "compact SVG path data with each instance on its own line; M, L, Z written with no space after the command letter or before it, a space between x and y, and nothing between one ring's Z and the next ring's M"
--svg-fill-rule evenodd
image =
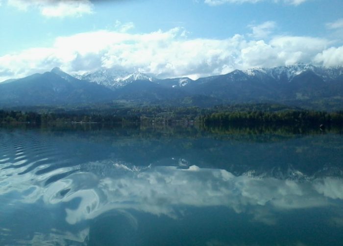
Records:
M25 49L0 56L0 81L61 67L71 74L118 68L154 74L159 78L226 74L235 69L317 62L341 65L342 48L329 48L331 41L315 37L274 36L251 40L236 34L226 39L190 39L182 27L150 33L98 30L57 37L50 47ZM255 28L268 32L273 23ZM257 31L256 31L257 30ZM262 31L261 31L262 30ZM334 56L332 56L334 54Z

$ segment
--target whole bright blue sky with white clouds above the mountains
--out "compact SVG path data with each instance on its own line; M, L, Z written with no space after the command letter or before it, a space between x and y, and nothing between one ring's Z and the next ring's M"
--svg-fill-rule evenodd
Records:
M343 65L342 0L0 0L0 81L58 66L197 78Z

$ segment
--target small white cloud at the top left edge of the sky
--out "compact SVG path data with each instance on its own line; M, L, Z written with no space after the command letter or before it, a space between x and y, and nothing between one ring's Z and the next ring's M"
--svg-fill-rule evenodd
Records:
M34 7L47 17L80 17L93 13L90 0L8 0L7 4L23 11Z

